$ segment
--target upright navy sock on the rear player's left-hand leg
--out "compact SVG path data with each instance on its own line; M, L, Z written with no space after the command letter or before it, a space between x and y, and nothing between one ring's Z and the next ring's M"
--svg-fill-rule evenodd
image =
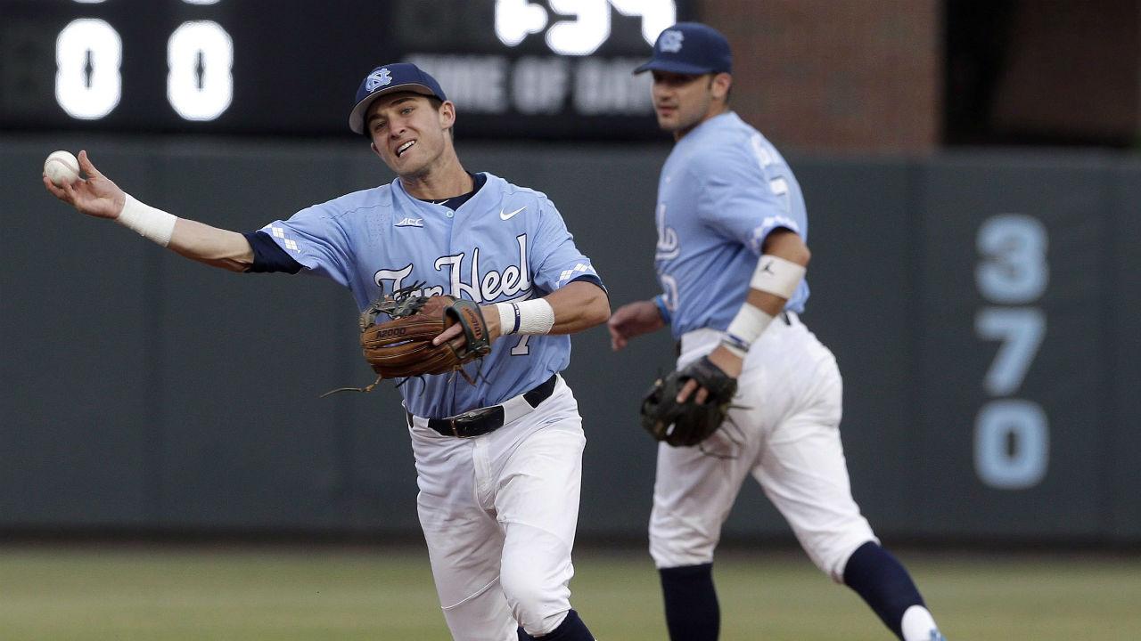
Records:
M658 574L671 641L717 641L721 609L713 587L713 563L662 568Z

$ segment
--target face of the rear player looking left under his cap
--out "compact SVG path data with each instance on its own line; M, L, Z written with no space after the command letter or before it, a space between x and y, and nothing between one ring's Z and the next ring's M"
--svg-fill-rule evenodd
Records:
M681 138L723 111L729 74L688 74L654 71L654 112L657 125Z

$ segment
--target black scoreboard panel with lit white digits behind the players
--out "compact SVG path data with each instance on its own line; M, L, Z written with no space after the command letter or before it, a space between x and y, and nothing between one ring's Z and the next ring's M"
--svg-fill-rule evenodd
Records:
M631 75L675 0L0 0L0 130L326 136L413 62L464 137L658 138Z

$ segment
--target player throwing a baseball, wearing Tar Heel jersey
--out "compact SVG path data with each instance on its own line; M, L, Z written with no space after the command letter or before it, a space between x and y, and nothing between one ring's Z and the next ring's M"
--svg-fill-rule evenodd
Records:
M545 195L464 171L455 117L416 66L377 67L361 83L349 128L397 179L248 234L143 204L86 152L86 180L43 182L79 211L193 260L331 278L361 309L402 287L478 303L494 342L476 382L455 373L410 378L399 387L404 412L389 419L406 415L444 618L456 640L591 640L567 587L585 439L559 372L569 362L567 334L604 323L609 302ZM459 331L453 325L435 342Z

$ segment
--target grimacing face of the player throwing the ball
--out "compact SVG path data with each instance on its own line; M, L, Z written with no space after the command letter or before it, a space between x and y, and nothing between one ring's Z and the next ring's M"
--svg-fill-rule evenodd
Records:
M427 96L412 92L383 96L365 114L372 149L400 177L429 173L452 148L454 123L452 103L436 108Z

